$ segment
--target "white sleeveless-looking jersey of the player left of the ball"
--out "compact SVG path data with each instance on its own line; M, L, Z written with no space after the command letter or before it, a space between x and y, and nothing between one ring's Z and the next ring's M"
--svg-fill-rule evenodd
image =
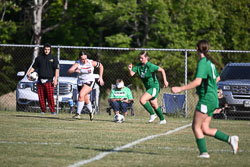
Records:
M92 60L87 59L87 63L82 63L81 60L77 60L76 63L78 63L78 69L80 70L80 73L78 73L78 80L77 84L81 85L82 83L87 83L90 81L95 81L94 77L94 66L92 65Z

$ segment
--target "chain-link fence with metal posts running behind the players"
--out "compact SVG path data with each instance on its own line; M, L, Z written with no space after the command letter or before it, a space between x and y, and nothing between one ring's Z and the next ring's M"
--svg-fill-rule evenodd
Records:
M39 52L42 52L42 46L37 45L5 45L0 44L0 110L16 110L18 108L16 89L19 86L19 81L23 77L17 77L19 71L25 71L29 69L33 62L34 49L39 48ZM176 85L187 84L194 79L195 69L198 62L198 56L194 49L152 49L152 48L107 48L107 47L74 47L74 46L52 46L51 53L57 56L59 60L71 60L78 59L80 51L87 53L89 59L100 61L104 66L104 82L105 85L100 88L100 96L98 97L99 112L106 112L109 107L108 97L111 90L111 85L115 84L116 79L120 78L124 80L125 85L132 84L132 92L134 96L134 113L135 115L144 114L144 108L140 105L139 99L145 92L143 83L139 77L130 77L128 72L128 65L139 63L138 54L142 51L148 51L150 61L156 65L165 69L167 80L169 82L168 88L163 88L163 81L161 74L158 73L158 80L160 82L161 91L158 95L158 103L162 105L163 111L164 102L163 96L165 94L171 94L170 87ZM222 71L224 65L232 62L250 62L250 51L230 51L230 50L211 50L211 57L218 62L216 67L219 72ZM95 71L98 74L98 71ZM19 84L18 84L19 83ZM26 88L33 89L34 85L26 85ZM250 80L245 83L245 89L247 90L246 103L250 104ZM61 89L58 88L58 96L60 96ZM29 96L29 95L27 95ZM37 96L37 94L36 94ZM195 110L198 96L195 90L189 90L183 92L185 96L184 103L181 103L181 107L173 107L176 110L180 110L185 117L191 117ZM171 104L178 101L178 99L170 100ZM56 101L58 102L58 100ZM28 103L28 102L27 102ZM166 106L168 107L168 106ZM248 107L248 106L247 106ZM59 112L64 112L67 106L59 107ZM245 110L250 108L244 107ZM239 110L239 109L238 109ZM65 110L67 111L67 110ZM176 111L174 111L176 113ZM179 112L177 112L179 113Z

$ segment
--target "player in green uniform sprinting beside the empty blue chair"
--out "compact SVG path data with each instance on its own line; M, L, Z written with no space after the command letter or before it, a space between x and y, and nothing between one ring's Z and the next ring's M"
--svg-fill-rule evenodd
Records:
M156 77L156 72L159 71L162 74L164 87L168 86L167 77L163 68L149 62L149 56L146 51L142 51L139 54L140 62L135 67L132 64L128 66L130 76L138 74L142 79L142 82L146 88L146 92L141 96L140 103L150 113L149 123L153 122L157 116L160 118L159 124L166 124L166 120L163 117L161 108L157 103L157 96L160 92L159 82ZM149 103L150 102L150 103ZM154 111L152 107L154 108Z

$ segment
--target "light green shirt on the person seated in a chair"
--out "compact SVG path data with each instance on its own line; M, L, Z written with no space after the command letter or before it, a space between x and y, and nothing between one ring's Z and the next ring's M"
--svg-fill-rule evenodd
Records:
M128 100L133 99L132 92L128 87L123 87L122 89L114 88L109 96L110 99L120 99L127 98Z

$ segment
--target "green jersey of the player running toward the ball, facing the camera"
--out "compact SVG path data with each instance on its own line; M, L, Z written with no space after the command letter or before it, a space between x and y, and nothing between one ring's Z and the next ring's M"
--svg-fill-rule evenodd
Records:
M132 71L141 77L146 90L148 90L150 88L160 88L155 73L158 71L158 69L159 66L147 62L145 65L142 63L137 64L135 67L133 67Z

